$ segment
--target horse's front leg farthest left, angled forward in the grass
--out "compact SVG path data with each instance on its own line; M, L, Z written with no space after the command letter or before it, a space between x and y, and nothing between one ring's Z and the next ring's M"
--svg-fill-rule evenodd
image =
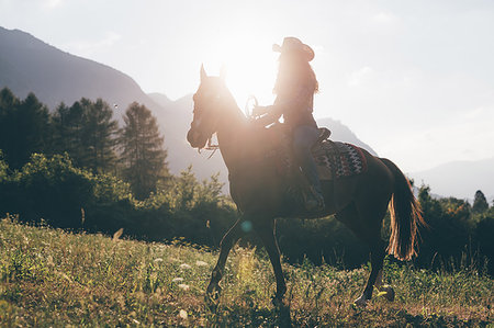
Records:
M226 259L228 258L229 250L237 242L242 236L240 219L238 219L229 230L223 236L220 242L220 257L217 259L216 267L214 267L211 274L211 281L206 289L206 299L216 299L220 297L222 289L220 287L220 281L223 276L223 270L225 269Z

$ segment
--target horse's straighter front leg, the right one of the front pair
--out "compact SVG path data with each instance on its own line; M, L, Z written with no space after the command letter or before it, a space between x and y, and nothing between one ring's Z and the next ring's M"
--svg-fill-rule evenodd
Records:
M278 306L283 302L284 293L287 292L287 284L284 282L283 270L281 269L280 248L278 247L277 238L274 236L274 220L269 219L255 226L259 237L261 238L269 260L271 261L274 276L277 279L277 293L272 298L272 303Z

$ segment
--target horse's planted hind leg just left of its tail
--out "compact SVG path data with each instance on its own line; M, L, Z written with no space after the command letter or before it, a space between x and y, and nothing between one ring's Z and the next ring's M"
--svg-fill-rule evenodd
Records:
M345 225L353 231L357 238L364 241L370 248L371 273L362 294L355 301L357 305L366 305L372 297L374 285L378 289L381 285L382 267L386 247L385 242L381 239L383 216L384 214L379 216L374 213L369 216L368 219L364 219L353 204L337 214L338 219L345 223Z

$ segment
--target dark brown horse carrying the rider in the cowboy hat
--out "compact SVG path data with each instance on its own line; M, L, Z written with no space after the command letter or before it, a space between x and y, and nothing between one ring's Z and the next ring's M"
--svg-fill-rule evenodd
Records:
M194 116L187 139L193 148L204 148L214 133L228 168L231 194L242 213L221 242L220 258L206 290L207 297L217 297L218 285L228 252L243 235L245 223L251 225L262 240L277 280L274 304L280 304L287 291L280 263L280 250L274 237L277 217L314 217L301 206L289 206L287 181L262 152L268 129L258 127L244 115L227 90L223 77L207 77L201 67L201 83L194 97ZM382 285L384 255L409 260L416 252L417 226L423 223L420 210L405 176L390 160L366 150L366 172L338 180L322 181L325 211L318 217L336 214L353 234L369 245L372 270L362 292L356 299L364 305L375 286L394 297L390 286ZM390 203L391 201L391 203ZM390 206L389 206L390 204ZM391 212L389 245L381 239L382 220L388 207Z

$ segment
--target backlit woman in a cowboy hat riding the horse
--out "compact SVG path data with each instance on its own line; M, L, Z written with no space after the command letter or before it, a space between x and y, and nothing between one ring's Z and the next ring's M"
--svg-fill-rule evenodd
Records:
M314 52L296 37L285 37L281 46L273 45L273 50L280 53L273 89L277 99L273 105L256 106L252 114L266 114L256 121L262 126L277 122L283 115L284 125L291 132L296 163L311 184L305 196L305 208L319 212L324 210L324 196L317 167L311 154L311 148L319 136L317 123L312 115L314 93L318 91L315 73L308 64L314 58Z

